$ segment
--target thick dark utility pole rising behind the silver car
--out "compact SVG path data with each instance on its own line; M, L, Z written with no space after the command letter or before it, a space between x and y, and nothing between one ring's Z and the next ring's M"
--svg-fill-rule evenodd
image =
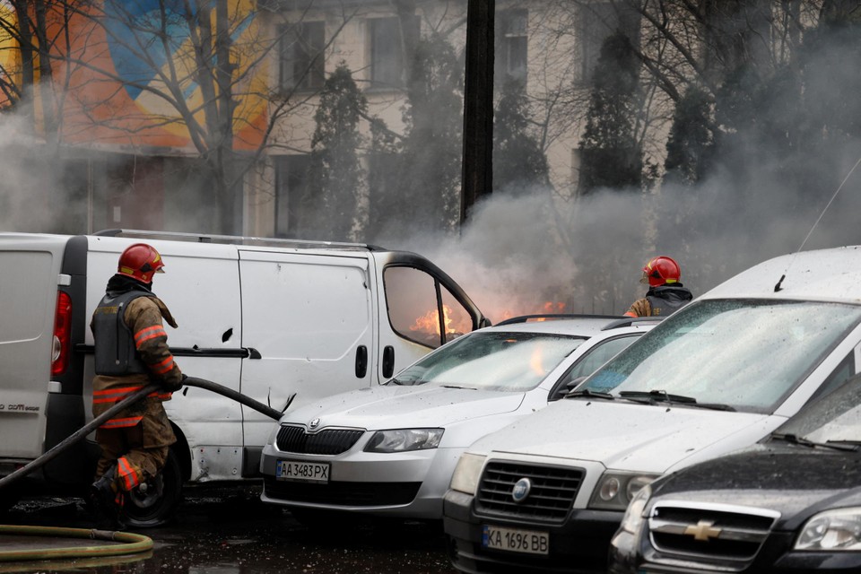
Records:
M493 20L495 0L469 0L466 7L464 157L460 224L493 187Z

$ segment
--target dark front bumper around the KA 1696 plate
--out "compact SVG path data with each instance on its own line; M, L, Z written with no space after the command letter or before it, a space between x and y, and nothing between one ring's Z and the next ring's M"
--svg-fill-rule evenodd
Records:
M464 572L605 572L610 539L622 521L622 512L572 510L561 524L517 518L479 517L473 497L448 491L443 500L443 527L448 557ZM549 535L546 555L489 550L483 545L483 526L503 526Z

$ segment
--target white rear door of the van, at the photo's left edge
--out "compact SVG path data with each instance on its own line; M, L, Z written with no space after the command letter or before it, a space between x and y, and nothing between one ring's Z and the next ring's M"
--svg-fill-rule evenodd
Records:
M67 238L0 238L0 457L39 457L44 448L57 285ZM57 387L57 385L55 385ZM6 470L6 469L4 469ZM4 473L7 474L7 473Z

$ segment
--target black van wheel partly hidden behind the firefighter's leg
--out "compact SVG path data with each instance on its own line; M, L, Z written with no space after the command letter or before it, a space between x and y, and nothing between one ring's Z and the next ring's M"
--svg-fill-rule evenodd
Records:
M126 495L125 511L128 526L152 528L170 522L182 501L182 473L173 448L161 473Z

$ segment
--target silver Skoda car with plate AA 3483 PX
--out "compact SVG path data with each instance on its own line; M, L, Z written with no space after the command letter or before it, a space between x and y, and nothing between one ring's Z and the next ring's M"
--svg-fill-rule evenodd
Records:
M509 322L474 331L385 386L283 416L264 448L262 500L312 523L324 510L439 519L457 457L475 439L570 391L657 321Z

